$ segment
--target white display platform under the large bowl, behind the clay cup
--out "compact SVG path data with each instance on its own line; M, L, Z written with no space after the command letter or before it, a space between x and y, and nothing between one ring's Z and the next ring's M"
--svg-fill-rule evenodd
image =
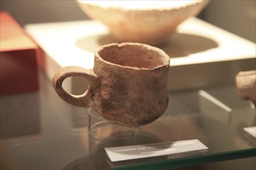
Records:
M95 49L115 42L109 29L94 20L29 24L25 29L45 53L44 70L50 80L63 66L92 69ZM255 69L254 42L194 17L182 22L159 48L171 57L169 90L232 83L238 71ZM86 89L81 79L65 83L67 91Z

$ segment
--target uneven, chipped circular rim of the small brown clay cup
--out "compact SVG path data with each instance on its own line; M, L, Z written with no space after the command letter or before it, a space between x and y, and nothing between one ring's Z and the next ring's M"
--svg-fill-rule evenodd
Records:
M136 67L136 66L123 66L120 64L116 64L116 63L112 63L107 61L106 59L102 59L102 57L99 55L99 52L102 51L103 49L105 49L106 47L110 47L110 46L118 46L118 47L122 47L122 46L144 46L147 49L150 49L152 51L155 51L157 53L159 53L160 56L164 57L164 62L163 64L159 65L159 66L154 66L153 68L146 68L146 67ZM99 49L97 49L95 51L95 59L99 59L100 61L102 61L103 63L107 63L111 66L122 66L124 68L130 69L130 70L156 70L159 69L161 67L169 67L170 65L170 57L168 56L167 53L165 53L162 49L159 49L155 46L150 46L144 43L139 43L139 42L121 42L121 43L110 43L110 44L106 44L104 46L101 46Z

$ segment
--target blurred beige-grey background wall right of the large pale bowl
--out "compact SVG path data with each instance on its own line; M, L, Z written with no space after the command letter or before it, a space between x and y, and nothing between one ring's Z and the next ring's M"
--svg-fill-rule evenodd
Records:
M203 11L206 21L255 42L255 0L212 0Z

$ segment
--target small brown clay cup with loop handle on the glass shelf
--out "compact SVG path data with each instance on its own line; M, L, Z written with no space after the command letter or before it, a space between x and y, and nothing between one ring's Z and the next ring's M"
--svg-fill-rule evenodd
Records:
M139 127L156 120L168 107L169 63L169 56L156 47L112 43L95 51L93 70L63 67L53 84L69 104L92 107L109 121ZM67 93L62 83L69 76L84 76L88 90L77 96Z

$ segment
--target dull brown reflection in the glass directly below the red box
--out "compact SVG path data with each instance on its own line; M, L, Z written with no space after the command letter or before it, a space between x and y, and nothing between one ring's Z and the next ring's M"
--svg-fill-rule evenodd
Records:
M22 138L40 133L38 93L4 96L0 102L1 139Z

